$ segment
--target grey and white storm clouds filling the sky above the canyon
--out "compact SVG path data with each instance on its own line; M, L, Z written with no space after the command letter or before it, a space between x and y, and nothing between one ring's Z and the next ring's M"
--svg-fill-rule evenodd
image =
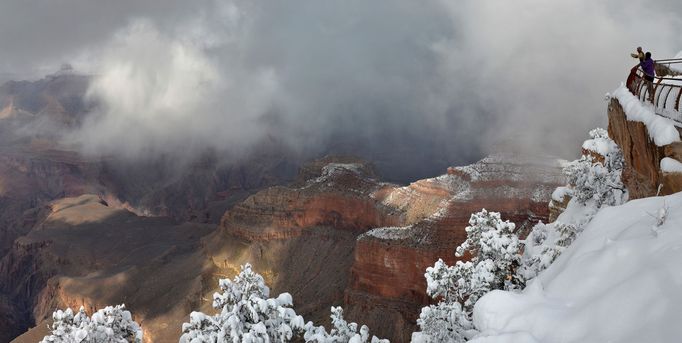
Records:
M681 33L673 0L3 0L0 75L97 75L102 112L70 136L91 153L276 137L440 167L493 146L575 157L629 53L673 56Z

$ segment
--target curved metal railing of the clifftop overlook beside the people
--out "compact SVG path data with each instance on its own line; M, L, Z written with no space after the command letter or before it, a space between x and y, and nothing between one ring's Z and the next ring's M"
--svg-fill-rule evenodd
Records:
M627 87L642 102L654 105L658 115L682 124L682 59L658 60L655 65L656 76L653 81L653 95L649 94L644 71L639 64L630 70Z

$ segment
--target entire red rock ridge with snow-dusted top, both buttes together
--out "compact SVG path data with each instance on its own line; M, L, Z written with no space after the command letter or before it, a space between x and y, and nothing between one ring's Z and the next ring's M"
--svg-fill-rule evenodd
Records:
M297 309L307 318L325 324L329 307L343 305L348 319L395 342L415 330L430 302L424 272L438 258L454 262L471 213L500 211L525 232L547 220L551 192L563 184L558 161L517 155L404 187L377 181L360 161L327 162L227 211L205 239L208 254L225 275L251 262L275 293L304 304Z

